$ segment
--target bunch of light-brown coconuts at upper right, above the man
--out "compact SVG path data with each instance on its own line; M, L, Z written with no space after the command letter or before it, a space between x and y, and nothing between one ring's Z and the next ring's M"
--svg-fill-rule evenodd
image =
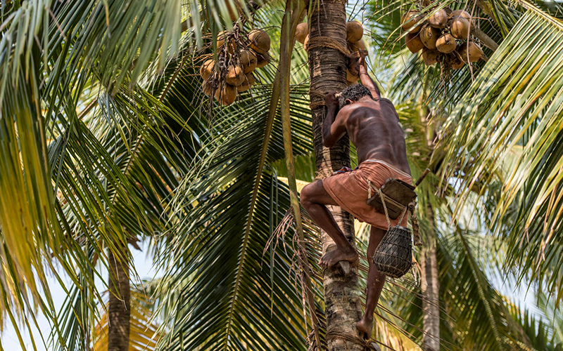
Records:
M471 40L472 18L467 11L445 7L432 15L410 10L401 18L401 28L407 32L405 44L411 53L422 50L426 65L441 62L452 69L476 62L483 57L481 46Z

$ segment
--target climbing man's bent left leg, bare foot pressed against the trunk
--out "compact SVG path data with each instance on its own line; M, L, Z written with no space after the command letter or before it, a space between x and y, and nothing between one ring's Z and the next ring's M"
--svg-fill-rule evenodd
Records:
M357 261L358 253L348 242L342 230L339 228L339 225L336 224L332 213L330 213L327 206L324 205L338 206L336 201L324 190L320 180L310 183L301 190L301 206L307 210L312 220L314 220L322 230L327 232L336 244L336 249L322 256L319 262L320 265L323 267L331 267L340 261Z

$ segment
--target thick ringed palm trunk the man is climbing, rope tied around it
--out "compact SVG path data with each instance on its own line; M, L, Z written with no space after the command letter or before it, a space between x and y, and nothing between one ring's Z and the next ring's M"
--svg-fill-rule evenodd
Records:
M346 48L346 0L313 1L310 13L309 70L311 77L310 100L312 133L317 162L317 179L330 176L343 166L350 166L350 142L348 135L330 149L322 145L322 123L327 109L324 94L346 88L346 56L334 46ZM325 39L319 39L325 37ZM326 37L333 40L331 46ZM336 45L334 45L336 44ZM355 246L353 218L337 206L329 206L336 223L348 241ZM327 233L322 232L322 250L334 244ZM346 274L339 265L324 270L324 302L327 317L327 346L329 351L361 351L356 322L362 317L362 303L358 289L358 270L352 268Z

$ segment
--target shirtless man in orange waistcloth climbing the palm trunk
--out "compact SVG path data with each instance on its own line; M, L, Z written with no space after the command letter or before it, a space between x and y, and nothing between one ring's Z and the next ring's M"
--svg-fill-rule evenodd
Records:
M336 98L335 93L326 96L327 117L322 126L322 143L333 146L344 134L358 150L358 168L343 169L332 176L317 180L303 188L301 204L312 220L334 240L336 249L322 256L320 265L327 268L339 261L357 263L358 253L346 240L325 205L341 206L355 218L372 225L367 246L369 274L365 314L358 322L358 330L369 338L372 334L374 310L385 282L372 263L374 251L383 239L389 224L384 213L366 204L368 180L374 187L381 187L388 178L412 183L407 162L405 134L398 123L398 114L391 101L381 98L379 89L367 74L365 56L356 62L362 85L349 86ZM375 194L372 191L372 196ZM398 220L391 220L391 226ZM401 223L407 226L407 216Z

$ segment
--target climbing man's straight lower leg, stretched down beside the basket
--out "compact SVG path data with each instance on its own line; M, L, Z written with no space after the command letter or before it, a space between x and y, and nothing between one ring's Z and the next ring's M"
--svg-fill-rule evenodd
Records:
M367 273L367 293L365 300L365 313L362 320L356 324L358 330L367 335L367 338L372 336L372 328L374 325L374 310L381 295L381 289L385 283L385 274L379 273L374 266L372 257L374 256L375 249L383 239L386 230L372 226L369 233L369 244L367 245L367 260L369 262L369 272Z

